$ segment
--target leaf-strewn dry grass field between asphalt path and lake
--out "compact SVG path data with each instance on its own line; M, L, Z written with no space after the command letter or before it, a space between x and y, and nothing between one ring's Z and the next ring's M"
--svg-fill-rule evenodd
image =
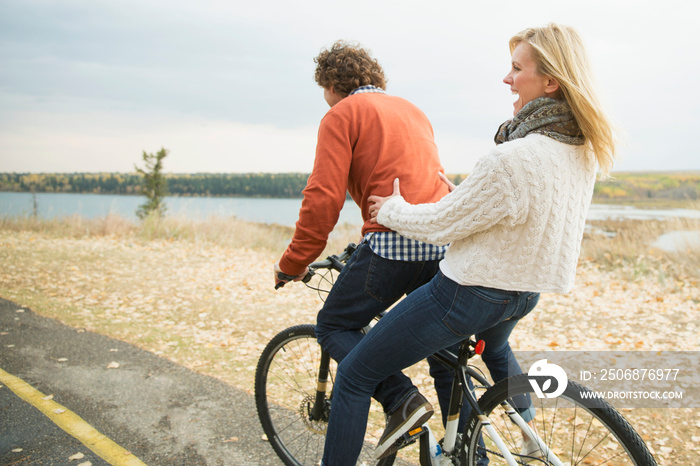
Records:
M645 224L645 232L635 234L641 224L630 225L629 231L624 224L601 225L624 240L586 238L577 287L567 295L543 296L514 331L514 348L699 349L697 275L684 272L690 266L676 265L679 257L649 253L648 239L664 226ZM153 225L118 218L4 219L0 296L252 392L265 344L286 327L314 322L320 306L299 284L272 288L272 263L291 234L289 228L235 219L166 219ZM355 228L338 229L328 250L339 252L356 235ZM635 247L652 265L647 271L639 270L642 255ZM410 374L437 406L425 367ZM663 409L625 415L660 464L692 464L698 453L697 442L690 441L698 436L697 413Z

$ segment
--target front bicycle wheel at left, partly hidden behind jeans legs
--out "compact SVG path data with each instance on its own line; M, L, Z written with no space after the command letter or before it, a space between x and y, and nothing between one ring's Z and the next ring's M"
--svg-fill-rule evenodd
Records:
M322 367L322 351L313 325L297 325L277 334L260 356L255 373L255 404L263 431L285 465L316 466L323 456L336 363ZM329 371L317 401L319 370ZM312 413L314 404L318 416ZM358 464L390 466L394 456L379 462L373 445L365 444Z

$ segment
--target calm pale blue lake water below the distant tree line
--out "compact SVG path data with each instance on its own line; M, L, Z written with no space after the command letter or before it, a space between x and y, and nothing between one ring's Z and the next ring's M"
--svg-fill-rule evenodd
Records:
M41 218L65 217L74 214L100 218L117 214L136 221L136 210L144 203L143 196L110 194L37 193L37 214ZM211 216L237 218L259 223L294 226L299 215L301 199L234 198L234 197L166 197L168 214L203 220ZM0 192L0 216L31 215L34 197L31 193ZM594 204L589 220L605 219L667 219L673 217L700 219L700 210L637 209L629 206ZM362 224L360 209L348 201L340 214L339 223Z

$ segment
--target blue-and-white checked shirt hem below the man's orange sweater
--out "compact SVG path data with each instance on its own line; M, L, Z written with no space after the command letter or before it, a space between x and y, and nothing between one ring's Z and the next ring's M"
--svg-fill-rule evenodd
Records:
M445 256L447 246L416 241L401 236L395 231L374 231L367 233L364 238L370 249L384 259L417 262L441 260Z

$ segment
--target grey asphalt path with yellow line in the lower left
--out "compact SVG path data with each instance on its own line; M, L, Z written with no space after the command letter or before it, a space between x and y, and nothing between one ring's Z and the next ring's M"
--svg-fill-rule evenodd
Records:
M281 464L252 395L1 298L0 369L66 410L54 422L0 382L1 465ZM62 420L71 413L125 460L105 461L68 433ZM76 454L84 456L70 459Z

